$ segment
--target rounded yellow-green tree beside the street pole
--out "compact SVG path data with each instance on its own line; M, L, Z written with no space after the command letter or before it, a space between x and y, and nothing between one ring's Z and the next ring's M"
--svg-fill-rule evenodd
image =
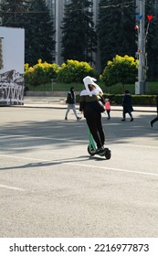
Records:
M133 84L135 82L137 73L138 60L127 55L124 57L116 55L112 61L108 61L108 64L103 70L100 78L104 81L106 86L111 86L121 82L124 91L125 84Z

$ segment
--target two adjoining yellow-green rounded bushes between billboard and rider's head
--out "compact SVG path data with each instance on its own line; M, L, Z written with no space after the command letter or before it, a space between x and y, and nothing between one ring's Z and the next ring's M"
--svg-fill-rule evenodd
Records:
M42 59L38 59L38 63L33 67L25 64L25 84L26 86L39 86L47 84L51 80L60 83L81 83L86 76L99 78L98 72L93 69L89 63L68 59L67 63L63 63L60 67L58 64L49 64Z

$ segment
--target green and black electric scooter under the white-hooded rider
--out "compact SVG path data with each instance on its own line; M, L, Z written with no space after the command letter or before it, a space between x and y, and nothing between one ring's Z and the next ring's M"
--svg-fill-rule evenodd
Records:
M111 159L111 150L108 147L105 147L104 151L101 153L95 153L96 149L97 149L97 145L96 145L96 143L93 139L93 136L89 130L89 145L88 145L89 154L91 156L93 156L93 155L105 156L106 159Z

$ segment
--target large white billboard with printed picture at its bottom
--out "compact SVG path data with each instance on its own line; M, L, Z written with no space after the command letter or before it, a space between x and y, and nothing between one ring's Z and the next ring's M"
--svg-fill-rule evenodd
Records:
M0 27L0 104L23 104L25 30Z

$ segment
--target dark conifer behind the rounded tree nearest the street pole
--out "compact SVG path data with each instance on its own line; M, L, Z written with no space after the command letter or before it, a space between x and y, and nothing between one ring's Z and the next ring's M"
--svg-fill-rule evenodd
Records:
M117 54L135 56L135 5L134 1L100 0L99 8L98 37L103 69Z

